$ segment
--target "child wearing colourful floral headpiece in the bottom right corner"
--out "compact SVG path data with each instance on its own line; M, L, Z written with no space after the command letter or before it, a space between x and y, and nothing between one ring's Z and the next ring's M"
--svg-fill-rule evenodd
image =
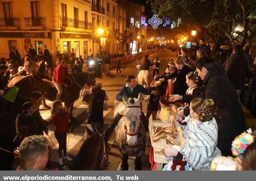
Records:
M236 156L238 170L256 170L256 132L249 128L232 142L231 151Z

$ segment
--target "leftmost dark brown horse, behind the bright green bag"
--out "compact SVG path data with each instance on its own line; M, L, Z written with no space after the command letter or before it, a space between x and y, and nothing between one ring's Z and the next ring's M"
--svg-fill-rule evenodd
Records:
M32 101L35 105L37 105L37 101L41 99L41 97L43 97L43 95L48 91L48 88L44 84L43 80L35 73L28 76L14 77L8 84L9 88L12 86L19 87L19 91L17 93L15 102L8 103L8 112L22 112L22 105L27 101Z

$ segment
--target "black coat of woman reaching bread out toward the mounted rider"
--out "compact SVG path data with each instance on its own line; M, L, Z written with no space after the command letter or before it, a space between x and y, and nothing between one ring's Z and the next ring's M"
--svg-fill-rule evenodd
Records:
M186 75L190 71L191 69L187 65L185 65L181 70L176 70L174 73L164 77L164 80L169 80L176 77L176 81L173 85L173 94L186 94L186 91L188 89L188 85L186 83Z

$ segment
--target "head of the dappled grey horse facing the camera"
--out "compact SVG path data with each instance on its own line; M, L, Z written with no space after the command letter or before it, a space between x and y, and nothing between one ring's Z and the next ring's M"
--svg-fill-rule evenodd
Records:
M123 101L125 105L124 111L124 129L126 133L126 143L130 148L134 148L137 145L137 134L140 129L140 115L141 115L141 100L142 94L136 98L126 98L123 94Z

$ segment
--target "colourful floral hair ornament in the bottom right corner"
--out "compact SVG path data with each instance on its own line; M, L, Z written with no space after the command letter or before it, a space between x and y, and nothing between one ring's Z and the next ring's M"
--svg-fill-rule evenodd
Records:
M255 137L252 134L252 128L236 136L235 140L232 142L231 151L234 156L242 158L244 151L254 142Z

